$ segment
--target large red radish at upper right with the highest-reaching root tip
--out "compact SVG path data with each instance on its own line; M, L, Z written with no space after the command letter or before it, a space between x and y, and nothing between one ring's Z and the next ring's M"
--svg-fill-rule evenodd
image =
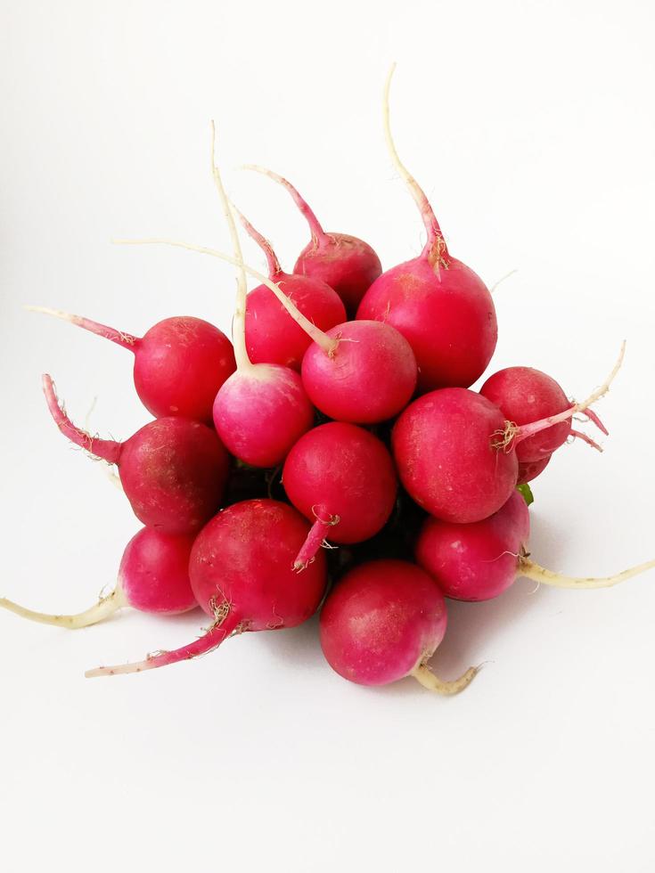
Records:
M389 153L415 200L428 239L419 257L382 273L366 292L357 318L392 324L409 340L419 388L468 388L487 369L498 336L487 286L446 247L437 218L419 184L398 157L389 126L389 72L384 124Z

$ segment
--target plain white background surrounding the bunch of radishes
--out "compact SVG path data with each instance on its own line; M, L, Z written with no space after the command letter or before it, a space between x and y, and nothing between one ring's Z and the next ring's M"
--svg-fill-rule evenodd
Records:
M40 374L77 420L97 395L102 434L147 420L127 353L20 306L135 333L173 314L226 330L229 266L110 244L228 245L212 117L229 191L285 265L307 229L243 162L289 175L328 230L361 235L385 266L413 257L422 227L381 133L394 59L398 148L451 250L489 283L519 271L496 292L493 366L539 367L579 398L628 340L599 407L605 454L566 447L536 483L534 557L604 575L655 555L651 3L2 8L4 595L86 607L137 528L105 468L53 427ZM487 666L452 700L348 684L315 622L86 681L86 667L191 639L202 616L126 611L70 633L3 614L0 866L652 870L653 614L653 575L602 592L522 580L454 604L435 669Z

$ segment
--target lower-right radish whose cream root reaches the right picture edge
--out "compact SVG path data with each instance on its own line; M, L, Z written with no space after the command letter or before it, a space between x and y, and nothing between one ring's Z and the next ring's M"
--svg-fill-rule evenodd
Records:
M476 524L428 518L416 543L416 560L455 600L489 600L519 576L558 588L607 588L655 567L649 561L602 579L560 575L528 558L528 538L528 507L514 492L495 515Z

